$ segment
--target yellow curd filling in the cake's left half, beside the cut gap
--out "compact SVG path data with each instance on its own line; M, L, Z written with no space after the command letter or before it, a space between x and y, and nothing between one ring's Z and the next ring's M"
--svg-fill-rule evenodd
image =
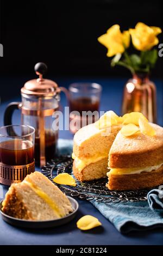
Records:
M74 161L76 162L76 167L79 170L79 172L82 172L82 170L86 166L89 166L89 164L96 163L104 159L105 157L108 157L108 153L103 155L96 154L95 156L83 157L83 159L79 159L76 155L74 155L74 153L72 153L72 159L74 159Z

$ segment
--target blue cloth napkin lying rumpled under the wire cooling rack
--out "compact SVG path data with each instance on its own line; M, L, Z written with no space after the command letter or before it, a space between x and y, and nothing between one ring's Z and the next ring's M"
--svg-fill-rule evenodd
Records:
M72 153L72 141L59 139L60 154ZM160 190L148 193L147 201L126 203L90 202L122 233L163 227L163 199ZM162 192L163 195L163 192ZM163 196L162 196L163 197Z

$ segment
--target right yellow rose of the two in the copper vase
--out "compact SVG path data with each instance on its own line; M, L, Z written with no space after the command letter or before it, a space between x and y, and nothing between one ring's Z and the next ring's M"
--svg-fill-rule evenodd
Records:
M129 29L133 45L139 51L151 50L151 48L159 43L156 35L160 34L161 28L148 27L142 22L137 23L135 28Z

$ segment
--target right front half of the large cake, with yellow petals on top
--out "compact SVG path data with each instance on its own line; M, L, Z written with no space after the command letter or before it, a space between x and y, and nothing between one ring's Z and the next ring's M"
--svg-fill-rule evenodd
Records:
M140 130L134 124L124 126L111 146L109 190L139 190L163 184L163 128L145 120L139 124Z

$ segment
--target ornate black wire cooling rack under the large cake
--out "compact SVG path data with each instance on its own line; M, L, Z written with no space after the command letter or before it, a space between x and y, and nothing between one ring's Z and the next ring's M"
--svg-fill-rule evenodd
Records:
M59 173L72 173L73 160L70 155L61 155L54 160L47 162L46 166L42 167L42 173L53 182L53 178ZM83 200L93 200L105 203L120 203L120 202L139 202L147 200L148 189L135 191L110 191L106 188L107 178L79 182L76 180L77 186L57 185L62 192L71 197L78 197Z

